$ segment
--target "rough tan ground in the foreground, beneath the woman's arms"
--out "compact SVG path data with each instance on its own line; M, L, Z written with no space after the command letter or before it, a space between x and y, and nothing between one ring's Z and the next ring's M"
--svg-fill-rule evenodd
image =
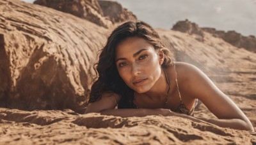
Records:
M256 133L176 116L120 118L0 109L0 144L255 144Z

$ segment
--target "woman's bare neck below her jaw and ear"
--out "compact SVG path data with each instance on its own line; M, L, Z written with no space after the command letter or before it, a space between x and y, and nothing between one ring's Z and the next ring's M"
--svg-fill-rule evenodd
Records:
M167 83L168 78L166 78L166 75L164 73L164 70L161 69L161 74L159 79L157 79L156 83L148 92L145 94L148 95L148 97L153 98L153 97L166 97L166 94L168 93L169 85Z

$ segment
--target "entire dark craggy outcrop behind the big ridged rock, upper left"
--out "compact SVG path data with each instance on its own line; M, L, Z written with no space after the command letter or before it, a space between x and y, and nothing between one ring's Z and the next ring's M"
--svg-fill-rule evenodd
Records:
M36 0L40 4L55 10L70 13L79 18L84 18L105 28L113 27L116 22L136 20L136 16L114 1L97 0Z

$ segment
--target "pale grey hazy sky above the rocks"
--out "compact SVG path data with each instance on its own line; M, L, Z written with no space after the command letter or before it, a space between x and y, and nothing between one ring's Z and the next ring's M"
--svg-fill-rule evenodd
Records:
M34 0L22 0L33 3ZM153 27L172 28L186 18L200 27L256 36L256 0L116 0Z

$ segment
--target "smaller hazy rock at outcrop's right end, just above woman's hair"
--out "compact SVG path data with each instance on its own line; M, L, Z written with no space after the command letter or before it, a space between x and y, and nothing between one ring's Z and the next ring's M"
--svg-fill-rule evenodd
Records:
M131 11L123 8L121 4L115 1L99 0L98 2L102 8L104 17L108 17L113 24L127 20L137 20Z

